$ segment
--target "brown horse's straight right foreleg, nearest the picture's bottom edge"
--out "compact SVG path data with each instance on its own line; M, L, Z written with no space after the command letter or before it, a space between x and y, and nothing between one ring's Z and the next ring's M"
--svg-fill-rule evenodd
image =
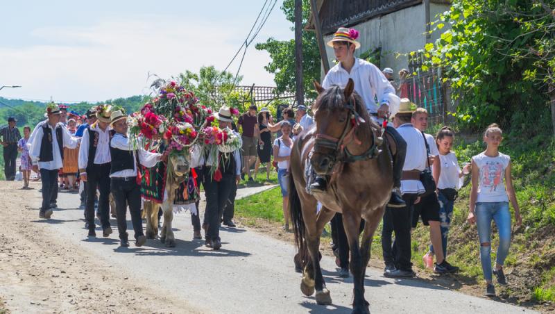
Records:
M359 228L361 217L352 213L348 208L343 209L343 226L349 242L350 249L350 270L353 278L352 313L369 313L368 306L364 301L364 269L363 256L359 249ZM366 227L365 227L366 229Z

